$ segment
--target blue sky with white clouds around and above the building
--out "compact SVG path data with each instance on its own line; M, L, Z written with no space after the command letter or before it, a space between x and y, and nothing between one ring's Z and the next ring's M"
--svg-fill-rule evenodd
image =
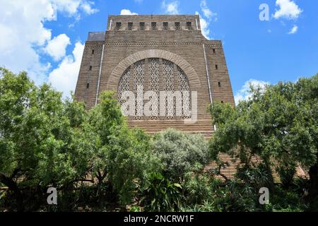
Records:
M269 6L269 20L259 19L261 4ZM0 0L0 65L69 95L88 32L105 31L108 15L199 13L204 35L223 41L238 100L248 81L318 73L317 9L313 0Z

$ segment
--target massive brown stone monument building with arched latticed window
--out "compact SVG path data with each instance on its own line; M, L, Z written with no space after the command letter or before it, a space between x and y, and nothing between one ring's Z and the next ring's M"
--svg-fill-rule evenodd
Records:
M192 106L192 95L187 102L196 114L195 123L186 124L189 115L184 112L176 114L175 102L167 104L165 114L128 117L129 126L148 133L172 127L209 138L214 128L207 106L213 101L235 105L222 42L202 35L198 15L110 16L105 32L88 34L76 100L89 109L102 91L114 90L122 103L122 93L136 93L139 86L142 93L151 90L158 95L160 91L196 92L197 105ZM145 99L140 98L136 107L142 108Z

